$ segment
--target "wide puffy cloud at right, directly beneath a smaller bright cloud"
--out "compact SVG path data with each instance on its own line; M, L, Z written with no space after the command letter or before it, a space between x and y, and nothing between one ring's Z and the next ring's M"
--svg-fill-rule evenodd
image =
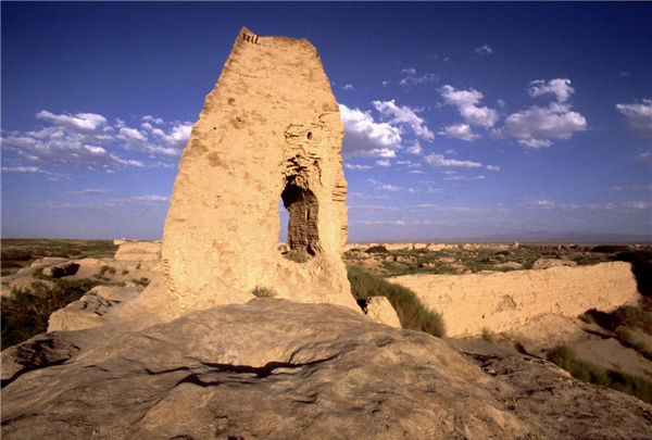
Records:
M541 148L550 147L550 139L568 139L574 133L586 130L587 120L570 111L569 105L552 102L549 106L535 105L511 114L505 127L519 143Z

